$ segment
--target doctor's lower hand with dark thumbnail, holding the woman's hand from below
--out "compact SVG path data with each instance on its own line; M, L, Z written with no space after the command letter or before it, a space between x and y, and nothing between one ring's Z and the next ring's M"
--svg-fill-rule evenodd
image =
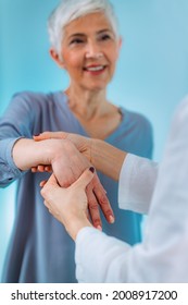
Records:
M71 186L64 188L59 186L52 174L41 188L45 205L62 224L73 240L85 227L92 227L88 220L88 198L86 187L95 178L95 169L86 169L84 173Z

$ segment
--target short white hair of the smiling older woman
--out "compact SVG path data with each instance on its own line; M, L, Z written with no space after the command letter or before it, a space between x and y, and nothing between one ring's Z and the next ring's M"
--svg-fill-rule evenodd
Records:
M51 46L60 53L64 27L84 15L103 12L110 21L115 36L118 36L117 19L109 0L62 0L48 20Z

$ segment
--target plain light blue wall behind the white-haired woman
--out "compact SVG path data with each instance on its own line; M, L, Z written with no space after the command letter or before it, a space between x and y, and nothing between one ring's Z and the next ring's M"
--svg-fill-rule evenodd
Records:
M20 90L54 90L65 74L48 54L46 20L58 0L0 0L0 114ZM174 107L188 91L188 1L113 0L123 47L109 97L153 123L161 159ZM0 190L0 272L14 216L14 185Z

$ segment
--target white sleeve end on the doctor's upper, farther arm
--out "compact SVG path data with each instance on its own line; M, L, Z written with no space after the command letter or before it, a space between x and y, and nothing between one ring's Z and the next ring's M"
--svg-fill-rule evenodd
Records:
M120 208L148 213L156 176L156 162L128 154L120 174Z

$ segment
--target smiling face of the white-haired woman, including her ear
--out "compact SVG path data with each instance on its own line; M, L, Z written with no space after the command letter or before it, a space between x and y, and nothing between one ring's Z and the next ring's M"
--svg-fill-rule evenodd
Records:
M72 21L64 28L60 56L54 50L51 56L67 71L71 86L100 90L105 89L113 77L120 46L121 40L105 15L92 13Z

